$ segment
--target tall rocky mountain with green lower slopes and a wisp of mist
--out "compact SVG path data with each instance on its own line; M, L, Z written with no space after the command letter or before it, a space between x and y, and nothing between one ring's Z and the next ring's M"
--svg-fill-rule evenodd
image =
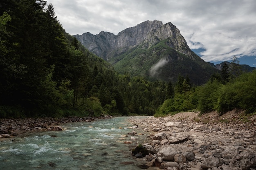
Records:
M74 36L119 73L173 82L179 75L189 76L193 84L200 85L219 71L189 49L171 22L145 21L117 35L101 31Z

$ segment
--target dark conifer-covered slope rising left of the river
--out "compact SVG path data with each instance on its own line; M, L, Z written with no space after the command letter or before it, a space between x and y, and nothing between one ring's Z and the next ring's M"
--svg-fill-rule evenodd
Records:
M117 74L65 33L52 4L3 0L0 117L153 115L164 82Z

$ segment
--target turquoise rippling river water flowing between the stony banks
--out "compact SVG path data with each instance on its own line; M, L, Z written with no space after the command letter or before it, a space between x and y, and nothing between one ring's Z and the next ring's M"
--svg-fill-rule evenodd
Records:
M61 126L63 131L1 141L0 170L141 170L131 150L147 140L146 132L128 128L134 126L129 118L69 123ZM144 135L135 136L137 140L120 139L132 130Z

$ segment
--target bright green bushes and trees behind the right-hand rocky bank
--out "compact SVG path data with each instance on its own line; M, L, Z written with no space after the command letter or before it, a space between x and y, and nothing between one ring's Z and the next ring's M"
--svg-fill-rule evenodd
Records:
M211 75L209 81L191 87L180 76L172 95L159 106L156 116L196 110L201 114L217 111L224 114L233 109L256 112L256 71L244 72L236 56L231 64L224 62L220 73ZM171 87L170 87L171 88Z

